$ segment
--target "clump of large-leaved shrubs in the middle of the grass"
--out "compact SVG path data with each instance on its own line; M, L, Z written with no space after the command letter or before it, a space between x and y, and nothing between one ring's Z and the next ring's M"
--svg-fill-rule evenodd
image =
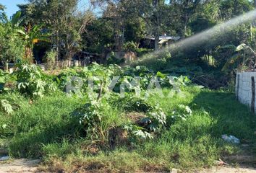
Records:
M160 107L153 106L132 94L121 99L119 94L111 94L98 101L89 99L84 106L74 112L74 118L79 120L88 138L106 140L104 136L108 136L108 130L119 127L117 124L120 124L116 124L116 120L121 118L120 115L111 120L113 115L110 113L113 110L145 113L145 117L141 117L137 122L121 123L133 141L153 138L153 133L159 132L166 125L166 115Z

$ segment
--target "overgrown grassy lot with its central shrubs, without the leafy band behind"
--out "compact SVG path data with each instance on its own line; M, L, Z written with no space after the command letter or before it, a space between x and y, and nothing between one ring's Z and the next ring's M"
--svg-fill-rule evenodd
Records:
M9 103L1 110L1 145L14 158L42 159L41 169L51 172L210 167L243 152L241 145L223 141L223 134L236 136L255 152L255 115L234 93L193 84L179 87L173 97L167 97L174 90L170 86L163 89L164 98L111 93L96 103L87 94L67 95L60 89L33 99L19 90L4 92L0 99Z

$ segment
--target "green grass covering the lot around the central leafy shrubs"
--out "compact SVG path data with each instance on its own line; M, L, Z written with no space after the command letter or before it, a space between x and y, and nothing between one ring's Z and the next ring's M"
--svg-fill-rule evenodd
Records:
M164 89L165 94L169 91ZM234 93L227 91L185 86L182 94L172 98L151 96L150 102L157 102L167 115L166 128L153 140L116 148L108 148L101 143L104 140L90 141L81 132L78 134L72 112L81 107L85 98L57 94L30 104L17 94L1 96L4 97L16 100L20 107L13 115L0 115L1 123L9 127L6 133L10 154L43 156L43 169L54 172L168 172L174 167L209 167L214 160L240 151L239 146L224 142L221 135L234 135L251 146L255 143L255 115L236 101ZM180 104L189 105L192 116L171 124L171 112ZM127 121L118 107L106 107L103 113L102 131Z

